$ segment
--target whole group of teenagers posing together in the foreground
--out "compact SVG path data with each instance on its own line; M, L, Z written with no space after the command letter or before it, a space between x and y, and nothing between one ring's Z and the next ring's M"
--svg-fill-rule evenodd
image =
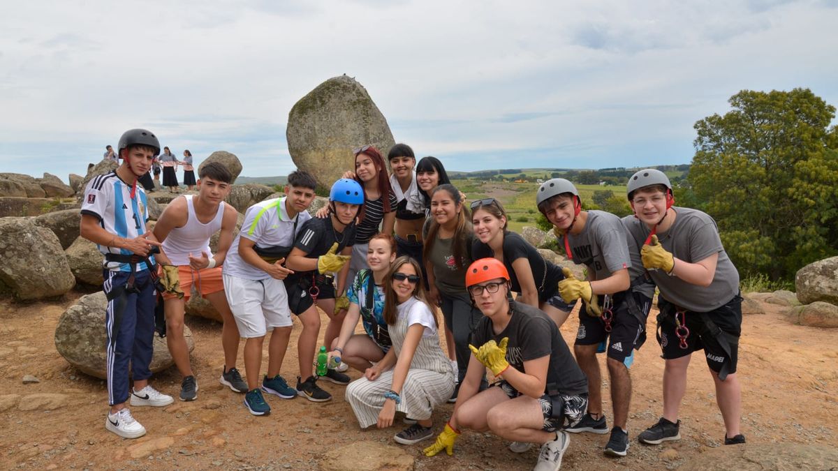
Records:
M329 401L332 396L318 386L328 380L347 386L345 399L362 428L391 427L400 412L407 427L394 440L402 444L431 439L432 412L454 402L436 442L424 449L427 456L442 450L451 455L464 430L493 432L515 453L541 445L539 470L561 467L568 433L610 432L604 453L625 456L629 369L646 339L657 287L664 410L639 433L639 442L680 439L687 366L694 351L703 351L724 443L745 443L736 375L738 273L715 221L676 207L665 173L634 173L627 187L634 215L622 220L582 210L566 179L541 184L535 205L554 226L567 258L587 272L578 279L508 230L497 199L468 203L437 158L417 163L405 144L387 156L390 175L375 147L354 149L354 170L334 182L328 204L315 215L308 212L315 180L291 173L285 196L248 208L235 237L237 212L224 203L232 177L223 165L208 163L199 170L198 193L173 199L147 230L147 197L137 178L159 150L151 132L123 134L122 165L91 180L81 209L81 235L105 256L107 430L140 437L146 430L127 403L173 402L148 385L158 292L168 348L183 375L179 398L197 398L183 332L184 305L199 294L224 320L220 382L244 394L246 409L256 416L271 411L266 395ZM209 240L217 232L213 252ZM572 354L559 328L580 301ZM316 371L318 308L328 316L322 343L328 365ZM292 314L302 324L295 386L282 375ZM356 333L359 322L363 333ZM244 379L236 369L240 338L246 339ZM597 353L607 355L610 429ZM351 380L344 373L349 368L360 378Z

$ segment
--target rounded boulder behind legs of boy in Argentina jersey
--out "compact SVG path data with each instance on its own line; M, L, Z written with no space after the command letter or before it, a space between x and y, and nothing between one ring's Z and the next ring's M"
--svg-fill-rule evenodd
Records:
M55 328L55 349L70 365L96 378L106 378L107 332L105 292L94 292L79 298L68 308ZM189 351L194 349L192 331L184 325L184 337ZM154 353L150 370L157 373L174 364L168 353L166 339L154 335Z

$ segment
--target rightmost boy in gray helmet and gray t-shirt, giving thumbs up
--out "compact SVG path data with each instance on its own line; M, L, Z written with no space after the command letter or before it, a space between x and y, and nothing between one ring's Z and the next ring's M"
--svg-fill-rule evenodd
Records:
M623 224L660 290L658 340L666 360L663 417L638 438L651 444L680 439L678 409L687 366L692 352L703 349L725 422L724 443L745 443L736 375L742 333L739 273L722 246L716 221L699 210L673 206L670 179L654 168L634 173L627 192L634 216L623 218Z

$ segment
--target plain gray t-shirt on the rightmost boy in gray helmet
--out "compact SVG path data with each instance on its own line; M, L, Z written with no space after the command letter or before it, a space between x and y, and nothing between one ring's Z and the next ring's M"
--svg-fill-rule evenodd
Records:
M675 258L696 263L714 253L719 254L716 273L708 287L685 282L679 277L670 277L660 270L649 270L660 294L670 303L698 313L707 313L722 307L739 292L739 272L727 256L719 238L716 221L699 210L673 206L675 222L670 229L658 233L658 240ZM623 218L623 225L629 230L631 239L642 247L649 236L649 228L634 216ZM675 262L677 263L677 262Z

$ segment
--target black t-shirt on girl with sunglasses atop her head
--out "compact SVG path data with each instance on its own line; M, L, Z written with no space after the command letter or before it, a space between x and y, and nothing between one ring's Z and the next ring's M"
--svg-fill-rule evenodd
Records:
M518 282L518 277L515 276L515 270L512 269L512 262L519 258L526 258L530 262L530 270L532 270L532 279L535 281L535 290L538 291L539 303L544 303L547 299L556 296L556 292L559 290L559 282L564 278L561 267L546 261L534 246L530 246L530 243L516 232L504 234L503 247L504 267L506 267L507 272L510 272L512 291L521 292L521 285ZM494 251L475 238L472 245L472 257L474 260L494 257Z

